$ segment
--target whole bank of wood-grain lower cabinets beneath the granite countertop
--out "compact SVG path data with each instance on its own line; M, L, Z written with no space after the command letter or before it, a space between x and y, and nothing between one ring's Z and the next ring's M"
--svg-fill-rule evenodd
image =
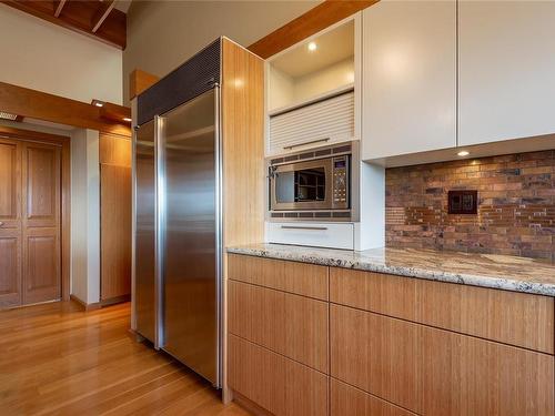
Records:
M229 270L228 385L262 414L554 415L552 297L246 255Z

